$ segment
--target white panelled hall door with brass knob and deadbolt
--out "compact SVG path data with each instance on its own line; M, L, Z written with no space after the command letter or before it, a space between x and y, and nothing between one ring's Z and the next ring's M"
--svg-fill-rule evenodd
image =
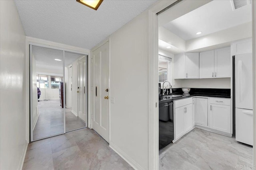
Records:
M109 43L92 52L94 59L94 113L92 128L109 142Z

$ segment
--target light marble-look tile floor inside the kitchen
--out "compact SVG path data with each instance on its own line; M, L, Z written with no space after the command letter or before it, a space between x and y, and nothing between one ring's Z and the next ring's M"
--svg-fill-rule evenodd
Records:
M159 152L159 170L252 169L252 146L235 138L195 128Z

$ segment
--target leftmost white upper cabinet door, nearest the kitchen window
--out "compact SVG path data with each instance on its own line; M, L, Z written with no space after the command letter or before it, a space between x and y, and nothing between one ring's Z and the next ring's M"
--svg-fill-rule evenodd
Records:
M174 56L174 79L185 78L185 56L184 53Z

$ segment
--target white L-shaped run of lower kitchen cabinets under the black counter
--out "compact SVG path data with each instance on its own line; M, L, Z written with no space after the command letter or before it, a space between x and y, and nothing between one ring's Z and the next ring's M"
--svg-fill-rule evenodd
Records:
M198 96L174 101L174 141L195 125L231 134L231 121L230 99Z

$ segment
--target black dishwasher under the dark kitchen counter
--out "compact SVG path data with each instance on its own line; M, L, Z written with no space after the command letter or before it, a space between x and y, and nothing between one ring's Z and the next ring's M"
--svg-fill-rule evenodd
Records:
M159 150L174 140L173 102L159 104Z

